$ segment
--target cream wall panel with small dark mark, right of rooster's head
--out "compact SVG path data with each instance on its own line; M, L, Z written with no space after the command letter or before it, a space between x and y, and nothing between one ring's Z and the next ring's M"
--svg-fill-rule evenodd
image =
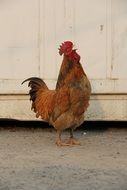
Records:
M91 79L106 79L106 0L76 0L76 44Z

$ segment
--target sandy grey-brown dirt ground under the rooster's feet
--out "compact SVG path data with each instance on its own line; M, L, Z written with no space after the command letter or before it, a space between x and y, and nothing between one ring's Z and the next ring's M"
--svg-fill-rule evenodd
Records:
M127 190L127 129L75 136L57 147L52 128L0 128L0 190Z

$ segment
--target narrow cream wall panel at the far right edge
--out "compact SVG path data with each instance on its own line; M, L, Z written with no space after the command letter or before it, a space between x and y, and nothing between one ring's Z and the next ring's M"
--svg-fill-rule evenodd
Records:
M112 28L111 77L127 79L127 1L112 1Z

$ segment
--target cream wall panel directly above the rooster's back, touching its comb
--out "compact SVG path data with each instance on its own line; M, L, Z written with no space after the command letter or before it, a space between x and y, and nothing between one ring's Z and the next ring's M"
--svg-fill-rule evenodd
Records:
M41 2L41 76L46 80L57 79L62 61L58 54L60 43L74 40L73 4L72 0Z

